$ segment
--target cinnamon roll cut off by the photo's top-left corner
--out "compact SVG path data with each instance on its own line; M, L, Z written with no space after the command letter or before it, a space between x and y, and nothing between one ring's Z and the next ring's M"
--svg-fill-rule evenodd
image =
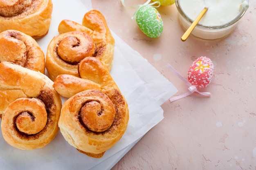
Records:
M40 38L48 33L52 0L0 0L0 32L15 29Z

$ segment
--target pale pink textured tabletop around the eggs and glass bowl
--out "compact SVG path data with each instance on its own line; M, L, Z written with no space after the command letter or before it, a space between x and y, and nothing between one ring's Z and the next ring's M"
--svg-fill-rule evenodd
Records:
M146 0L126 0L126 6ZM112 170L256 170L256 0L235 31L219 41L202 41L184 33L175 4L157 8L164 32L148 38L131 19L136 9L119 0L92 0L110 29L138 51L162 75L185 93L187 86L167 67L186 78L189 66L200 56L214 64L213 79L200 91L175 102L166 101L164 119L151 129Z

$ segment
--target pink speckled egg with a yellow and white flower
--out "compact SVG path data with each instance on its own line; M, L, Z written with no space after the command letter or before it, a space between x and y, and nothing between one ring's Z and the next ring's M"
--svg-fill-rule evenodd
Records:
M193 62L188 71L188 81L197 88L207 87L213 76L213 62L202 56Z

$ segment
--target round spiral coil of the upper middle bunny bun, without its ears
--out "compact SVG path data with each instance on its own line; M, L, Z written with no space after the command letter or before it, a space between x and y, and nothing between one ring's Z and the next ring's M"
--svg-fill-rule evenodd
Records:
M47 47L46 69L50 79L60 74L78 77L77 64L95 53L94 41L85 32L70 31L55 36Z

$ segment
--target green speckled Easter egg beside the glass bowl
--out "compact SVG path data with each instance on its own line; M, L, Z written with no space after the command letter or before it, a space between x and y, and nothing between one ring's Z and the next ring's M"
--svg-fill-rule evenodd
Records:
M144 6L136 13L139 29L150 38L159 37L164 29L163 20L159 12L152 6Z

